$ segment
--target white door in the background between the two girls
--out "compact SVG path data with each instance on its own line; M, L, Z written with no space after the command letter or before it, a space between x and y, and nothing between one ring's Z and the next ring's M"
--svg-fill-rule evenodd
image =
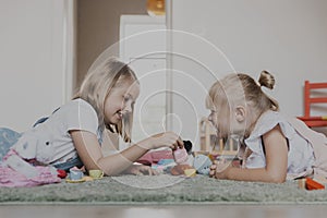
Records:
M140 80L132 131L132 141L138 142L166 129L165 19L122 15L120 58L130 63Z

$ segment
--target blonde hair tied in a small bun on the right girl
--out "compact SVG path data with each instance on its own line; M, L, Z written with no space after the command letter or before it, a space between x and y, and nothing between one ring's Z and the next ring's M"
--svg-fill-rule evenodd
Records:
M275 78L267 71L262 71L258 83L247 74L229 74L213 84L206 105L234 107L243 102L259 114L269 109L277 111L278 102L262 90L262 86L272 89L274 85Z

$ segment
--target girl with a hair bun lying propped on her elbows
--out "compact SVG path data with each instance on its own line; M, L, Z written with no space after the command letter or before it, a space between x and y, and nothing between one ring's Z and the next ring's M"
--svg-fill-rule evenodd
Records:
M258 82L247 74L229 74L209 89L206 107L218 137L239 141L241 167L216 160L216 179L284 182L288 178L327 177L327 141L302 121L283 117L278 102L262 87L272 89L275 77L267 71Z

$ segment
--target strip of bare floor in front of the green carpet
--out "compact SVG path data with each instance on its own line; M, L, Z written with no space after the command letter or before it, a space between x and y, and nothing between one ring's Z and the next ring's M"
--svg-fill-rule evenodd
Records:
M319 218L327 216L325 205L1 205L1 218Z

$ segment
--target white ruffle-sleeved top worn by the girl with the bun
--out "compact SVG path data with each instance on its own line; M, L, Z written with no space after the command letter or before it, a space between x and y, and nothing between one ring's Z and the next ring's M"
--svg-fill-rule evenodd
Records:
M252 154L245 161L246 168L264 168L266 157L264 154L262 135L279 125L282 134L289 141L288 174L303 174L313 171L315 161L314 150L307 140L302 137L292 125L279 113L267 111L258 119L251 135L244 141Z

